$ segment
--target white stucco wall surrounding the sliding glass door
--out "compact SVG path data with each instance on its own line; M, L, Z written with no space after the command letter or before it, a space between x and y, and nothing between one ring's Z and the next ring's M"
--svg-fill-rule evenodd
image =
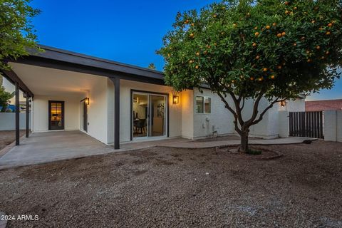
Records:
M181 103L172 103L172 88L168 86L158 86L150 83L140 83L135 81L120 80L120 142L130 141L130 91L142 90L150 93L167 93L169 95L169 136L182 136L182 106ZM111 107L114 103L114 86L108 82L108 144L114 141L114 123L115 111Z

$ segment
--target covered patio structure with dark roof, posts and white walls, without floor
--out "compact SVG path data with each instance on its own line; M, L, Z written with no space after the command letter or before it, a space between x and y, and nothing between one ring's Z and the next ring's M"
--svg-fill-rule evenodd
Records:
M33 133L83 130L118 150L120 83L164 85L164 75L158 71L48 46L40 48L44 50L41 53L31 51L24 58L9 59L13 69L2 72L16 86L16 145L21 145L19 90L26 95L26 105L31 102L33 106ZM28 118L27 110L26 123ZM26 138L29 130L26 125Z

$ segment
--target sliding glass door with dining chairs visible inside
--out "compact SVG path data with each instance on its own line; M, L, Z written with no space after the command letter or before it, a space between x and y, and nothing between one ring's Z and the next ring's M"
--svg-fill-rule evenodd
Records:
M163 137L167 132L167 95L133 92L133 138Z

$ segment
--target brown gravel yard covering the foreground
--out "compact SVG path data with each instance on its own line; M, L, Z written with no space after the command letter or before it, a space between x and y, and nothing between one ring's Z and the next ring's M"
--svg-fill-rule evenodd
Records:
M9 227L342 227L342 143L256 160L154 147L0 171Z

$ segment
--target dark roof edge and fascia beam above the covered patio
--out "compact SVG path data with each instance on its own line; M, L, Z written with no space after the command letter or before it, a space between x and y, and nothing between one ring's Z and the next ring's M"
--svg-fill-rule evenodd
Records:
M43 49L43 52L30 50L29 56L18 58L13 62L64 71L88 73L108 78L120 78L129 81L165 85L165 75L160 71L86 56L81 53L74 53L49 46L39 47Z

